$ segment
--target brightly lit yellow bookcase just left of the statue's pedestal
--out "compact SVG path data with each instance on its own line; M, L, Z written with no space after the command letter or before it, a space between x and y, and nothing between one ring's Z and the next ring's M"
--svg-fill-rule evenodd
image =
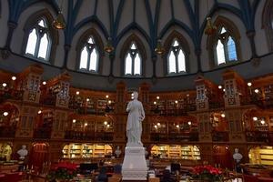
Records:
M64 158L111 157L112 147L99 144L69 144L63 148Z

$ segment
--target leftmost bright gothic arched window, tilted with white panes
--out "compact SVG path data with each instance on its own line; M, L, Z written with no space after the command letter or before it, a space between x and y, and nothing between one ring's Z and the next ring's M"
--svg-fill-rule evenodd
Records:
M25 55L48 60L51 49L51 37L48 23L44 17L38 19L30 29L25 47Z

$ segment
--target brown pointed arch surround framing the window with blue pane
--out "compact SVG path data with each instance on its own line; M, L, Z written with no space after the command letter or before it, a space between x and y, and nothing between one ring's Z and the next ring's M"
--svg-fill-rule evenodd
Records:
M216 45L217 41L220 37L224 37L221 35L221 30L224 27L227 36L231 37L236 46L236 53L237 53L237 61L241 60L241 48L240 48L240 34L237 25L235 25L232 21L227 19L222 15L217 16L217 19L214 22L214 25L217 27L217 34L210 35L207 37L207 51L208 51L208 58L209 58L209 65L213 68L217 65L217 54L216 54ZM228 65L226 63L225 65Z

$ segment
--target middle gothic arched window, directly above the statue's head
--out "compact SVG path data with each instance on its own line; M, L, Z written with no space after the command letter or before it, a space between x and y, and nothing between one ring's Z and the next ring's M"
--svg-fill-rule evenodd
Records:
M136 47L136 43L133 42L130 45L129 50L125 56L125 75L126 76L141 76L141 56Z

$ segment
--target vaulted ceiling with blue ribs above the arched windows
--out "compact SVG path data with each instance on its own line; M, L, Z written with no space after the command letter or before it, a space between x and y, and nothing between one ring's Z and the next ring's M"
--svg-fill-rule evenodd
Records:
M169 27L181 28L200 47L207 15L226 11L238 16L247 30L254 29L259 0L9 0L9 20L18 22L22 12L37 3L48 4L66 18L66 45L83 26L96 24L105 37L117 45L132 29L145 37L150 48L156 46Z

